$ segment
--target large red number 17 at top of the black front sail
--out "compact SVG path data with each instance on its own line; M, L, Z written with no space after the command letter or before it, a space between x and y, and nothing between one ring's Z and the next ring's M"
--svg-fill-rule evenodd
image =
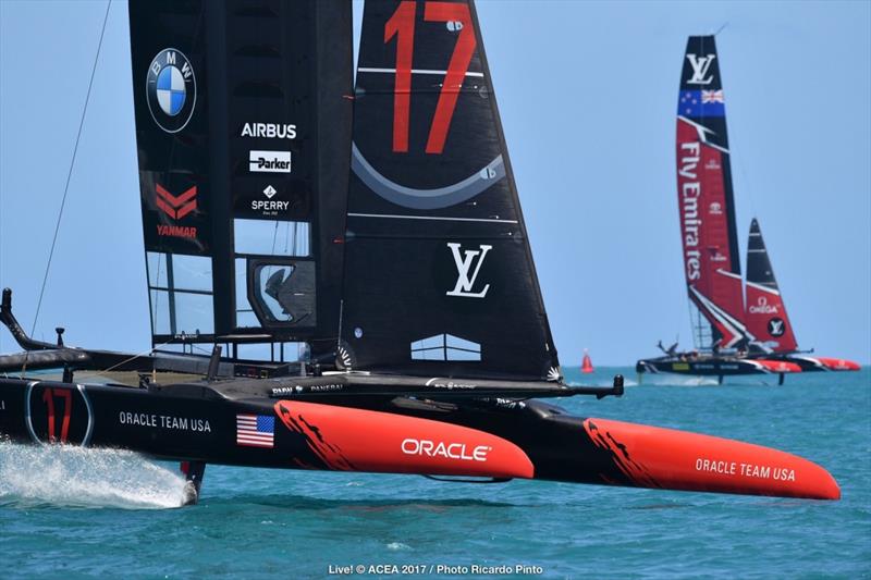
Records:
M408 152L408 118L412 97L412 55L414 52L415 13L417 2L403 0L384 25L384 42L396 37L396 82L393 88L393 151ZM440 155L444 150L447 127L454 115L456 99L463 79L475 53L475 30L471 28L469 7L465 3L426 2L424 20L459 24L459 37L444 75L436 114L427 139L427 152Z

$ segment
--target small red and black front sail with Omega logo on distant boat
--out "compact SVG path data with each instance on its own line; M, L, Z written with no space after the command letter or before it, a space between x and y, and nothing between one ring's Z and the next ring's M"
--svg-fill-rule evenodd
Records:
M798 348L793 324L774 277L759 222L750 223L747 242L747 329L756 336L753 343L771 353L793 353Z

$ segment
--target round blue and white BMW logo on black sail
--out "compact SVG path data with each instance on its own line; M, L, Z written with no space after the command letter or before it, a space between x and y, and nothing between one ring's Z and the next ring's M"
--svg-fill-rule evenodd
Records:
M191 61L181 50L164 48L148 66L148 110L167 133L182 131L194 114L197 78Z

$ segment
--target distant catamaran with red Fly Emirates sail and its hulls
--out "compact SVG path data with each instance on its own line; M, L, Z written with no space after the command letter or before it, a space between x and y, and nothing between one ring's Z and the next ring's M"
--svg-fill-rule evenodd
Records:
M713 36L690 36L677 103L677 198L696 350L642 359L636 371L696 375L858 370L797 349L759 223L741 280L725 99ZM745 301L746 293L746 301Z

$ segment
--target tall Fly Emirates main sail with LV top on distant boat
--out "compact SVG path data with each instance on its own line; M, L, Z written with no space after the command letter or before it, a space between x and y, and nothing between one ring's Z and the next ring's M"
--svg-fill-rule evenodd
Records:
M710 323L697 346L745 344L726 110L713 36L691 36L677 101L677 200L689 298Z

